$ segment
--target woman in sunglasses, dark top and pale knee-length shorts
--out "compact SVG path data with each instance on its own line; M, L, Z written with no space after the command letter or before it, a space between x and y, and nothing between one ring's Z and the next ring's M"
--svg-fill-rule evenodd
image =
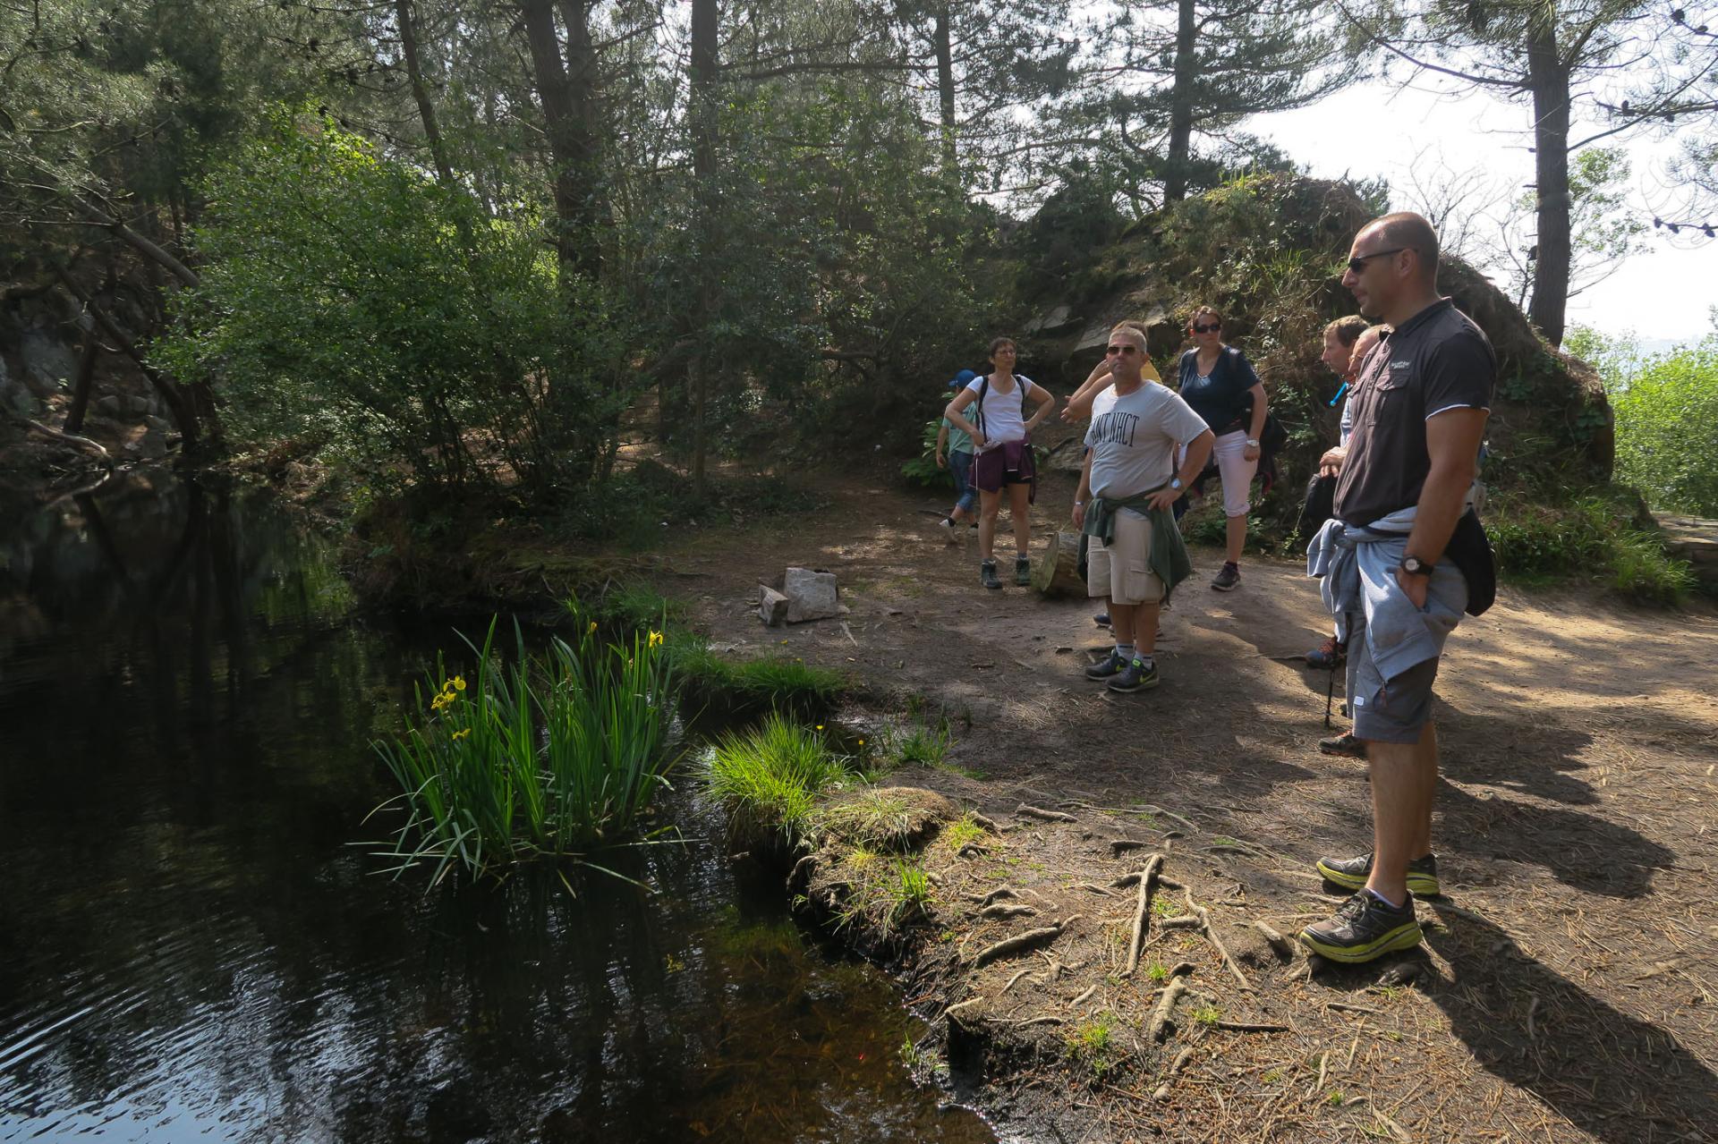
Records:
M1240 584L1240 548L1247 539L1247 493L1259 471L1259 435L1264 433L1264 383L1252 362L1223 344L1223 316L1201 306L1187 323L1192 349L1180 357L1180 395L1216 435L1211 459L1223 481L1223 515L1228 519L1223 570L1211 581L1220 593Z

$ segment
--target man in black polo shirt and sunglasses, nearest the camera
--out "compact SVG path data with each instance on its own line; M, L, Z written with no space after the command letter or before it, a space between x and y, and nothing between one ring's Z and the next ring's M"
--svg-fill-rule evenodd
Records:
M1438 893L1431 685L1462 612L1488 603L1491 553L1467 490L1496 356L1484 332L1438 294L1438 235L1419 215L1368 223L1342 283L1361 313L1393 332L1356 385L1335 517L1307 548L1307 574L1323 577L1331 615L1354 625L1349 703L1371 764L1373 852L1319 859L1326 881L1356 893L1302 929L1301 941L1338 962L1368 962L1419 945L1410 891Z

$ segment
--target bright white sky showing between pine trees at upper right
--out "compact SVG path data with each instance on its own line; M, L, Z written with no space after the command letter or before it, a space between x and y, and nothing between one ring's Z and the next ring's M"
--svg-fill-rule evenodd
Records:
M1532 182L1529 108L1486 93L1460 98L1424 86L1368 81L1314 106L1254 117L1247 131L1273 141L1321 179L1385 177L1392 206L1416 161L1455 173L1472 172L1495 191ZM1629 144L1634 201L1651 191L1651 172L1673 148L1653 139ZM1715 218L1713 222L1718 222ZM1718 306L1718 242L1677 249L1663 232L1649 232L1648 251L1569 302L1569 323L1605 335L1632 333L1646 349L1694 342L1713 332L1708 309Z

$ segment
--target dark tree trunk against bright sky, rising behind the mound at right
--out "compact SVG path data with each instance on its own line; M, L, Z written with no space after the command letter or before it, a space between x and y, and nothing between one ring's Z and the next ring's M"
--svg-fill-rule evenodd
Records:
M1532 84L1534 194L1538 258L1527 318L1551 345L1563 344L1569 309L1569 67L1557 55L1557 27L1534 21L1527 40Z

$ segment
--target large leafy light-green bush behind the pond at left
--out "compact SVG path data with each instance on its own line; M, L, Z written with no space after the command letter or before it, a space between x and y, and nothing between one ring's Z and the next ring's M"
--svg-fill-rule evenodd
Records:
M216 376L242 438L320 441L424 484L484 481L486 455L539 491L596 474L620 333L600 294L557 278L533 211L483 215L359 136L285 113L208 194L203 283L156 356Z

